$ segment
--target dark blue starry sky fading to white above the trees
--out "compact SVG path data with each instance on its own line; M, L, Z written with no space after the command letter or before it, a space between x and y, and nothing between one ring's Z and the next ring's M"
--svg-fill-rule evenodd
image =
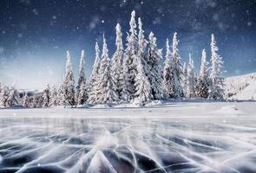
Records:
M1 0L0 80L22 88L43 88L62 80L66 50L75 74L86 52L86 75L94 61L95 41L104 33L109 55L115 51L115 25L125 43L132 10L145 34L166 39L178 32L182 61L191 53L200 66L202 48L209 61L213 33L225 61L225 76L256 72L256 1L254 0ZM102 47L102 46L101 46Z

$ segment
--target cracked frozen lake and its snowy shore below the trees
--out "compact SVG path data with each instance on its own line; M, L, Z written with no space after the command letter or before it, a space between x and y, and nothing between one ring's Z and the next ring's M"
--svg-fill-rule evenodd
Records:
M255 102L0 110L0 172L255 170Z

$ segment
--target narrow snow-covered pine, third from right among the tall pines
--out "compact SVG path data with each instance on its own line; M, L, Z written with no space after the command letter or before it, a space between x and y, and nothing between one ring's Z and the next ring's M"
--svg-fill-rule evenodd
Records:
M189 54L187 66L187 98L194 98L194 86L194 61L191 58L191 54Z

